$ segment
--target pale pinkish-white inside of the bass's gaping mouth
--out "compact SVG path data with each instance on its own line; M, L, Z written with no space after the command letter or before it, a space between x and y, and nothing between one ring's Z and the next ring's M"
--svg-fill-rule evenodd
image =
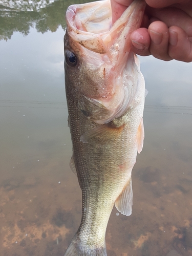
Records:
M67 20L72 29L80 32L100 34L112 27L112 12L109 0L70 6Z

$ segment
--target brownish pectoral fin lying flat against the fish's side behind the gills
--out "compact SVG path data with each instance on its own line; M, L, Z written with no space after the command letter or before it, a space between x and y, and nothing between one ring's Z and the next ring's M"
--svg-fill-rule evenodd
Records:
M120 127L117 127L113 124L113 121L109 123L104 123L99 126L97 126L95 129L84 133L80 137L80 141L83 143L89 142L91 139L100 139L103 143L106 140L111 140L112 138L115 138L118 134L120 134L123 130L124 124Z

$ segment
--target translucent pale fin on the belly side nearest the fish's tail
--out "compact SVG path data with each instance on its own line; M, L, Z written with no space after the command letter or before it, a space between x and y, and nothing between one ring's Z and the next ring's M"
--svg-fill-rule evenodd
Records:
M127 185L122 190L121 194L115 201L115 207L121 214L130 216L132 214L133 205L133 190L132 190L132 178L130 178Z

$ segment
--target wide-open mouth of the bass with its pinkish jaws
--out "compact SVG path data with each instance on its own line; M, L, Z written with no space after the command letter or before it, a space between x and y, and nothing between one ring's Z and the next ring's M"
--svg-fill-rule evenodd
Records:
M120 48L118 45L122 44L124 49L129 48L122 43L122 38L127 43L131 33L140 27L144 8L144 1L134 1L113 26L110 0L100 1L99 5L98 2L72 5L67 10L66 18L74 40L94 52L105 53L110 48L111 51Z

